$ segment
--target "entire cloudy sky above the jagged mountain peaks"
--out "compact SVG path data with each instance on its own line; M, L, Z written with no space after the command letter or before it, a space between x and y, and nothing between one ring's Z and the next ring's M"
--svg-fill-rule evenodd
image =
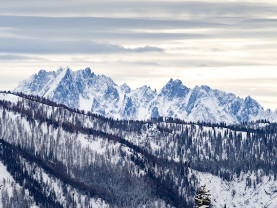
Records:
M1 1L0 90L60 66L132 89L180 79L274 110L277 1Z

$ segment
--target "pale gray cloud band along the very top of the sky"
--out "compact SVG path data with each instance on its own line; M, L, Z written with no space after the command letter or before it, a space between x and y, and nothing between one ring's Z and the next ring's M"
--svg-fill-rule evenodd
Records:
M52 16L265 16L277 11L274 1L22 1L4 0L3 14Z

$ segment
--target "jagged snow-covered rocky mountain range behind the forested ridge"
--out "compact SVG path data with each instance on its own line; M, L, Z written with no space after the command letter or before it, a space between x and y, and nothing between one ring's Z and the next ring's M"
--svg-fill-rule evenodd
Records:
M78 71L68 67L51 72L40 70L20 82L14 91L34 94L114 119L172 117L229 124L260 119L277 121L276 110L264 110L249 96L242 99L203 85L190 89L180 80L172 79L160 92L146 85L131 90L127 84L118 86L105 75L95 75L90 68Z

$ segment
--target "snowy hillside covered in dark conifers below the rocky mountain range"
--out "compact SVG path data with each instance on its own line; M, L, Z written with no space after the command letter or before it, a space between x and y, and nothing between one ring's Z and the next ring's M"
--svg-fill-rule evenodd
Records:
M3 207L193 207L204 182L215 207L276 203L276 123L113 120L8 92L0 106Z

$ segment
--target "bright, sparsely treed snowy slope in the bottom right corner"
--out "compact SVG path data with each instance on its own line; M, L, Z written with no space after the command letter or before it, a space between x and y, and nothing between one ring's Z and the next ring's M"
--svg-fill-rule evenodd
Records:
M193 171L194 172L194 171ZM257 171L259 175L259 170ZM200 184L207 185L214 207L276 207L277 181L274 176L263 176L256 182L254 173L241 174L233 181L226 181L209 173L194 172ZM247 178L251 185L247 185Z

